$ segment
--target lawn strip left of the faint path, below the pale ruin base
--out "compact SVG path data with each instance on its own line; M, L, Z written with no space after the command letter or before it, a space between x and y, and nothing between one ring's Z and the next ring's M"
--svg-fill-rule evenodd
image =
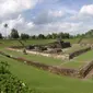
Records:
M46 65L58 66L63 62L61 59L55 59L53 57L44 57L44 56L32 55L32 54L24 55L21 51L12 51L12 50L8 50L8 49L2 49L2 51L4 51L5 54L15 56L15 57L24 57L28 60L37 61L37 62L42 62L42 63L46 63Z

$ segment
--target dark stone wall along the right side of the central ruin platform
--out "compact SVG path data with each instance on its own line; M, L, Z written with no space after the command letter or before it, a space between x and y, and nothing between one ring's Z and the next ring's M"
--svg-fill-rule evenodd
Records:
M71 54L69 55L69 59L72 59L72 58L74 58L74 57L77 57L77 56L79 56L79 55L81 55L81 54L83 54L83 53L86 53L86 51L89 51L89 50L91 50L91 47L88 47L88 48L85 48L85 49L80 49L80 50L77 50L77 51L74 51L74 53L71 53Z

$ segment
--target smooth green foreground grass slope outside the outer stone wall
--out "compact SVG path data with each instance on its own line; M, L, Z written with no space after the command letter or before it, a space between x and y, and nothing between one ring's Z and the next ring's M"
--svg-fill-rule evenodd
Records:
M46 93L92 93L93 82L81 81L67 77L59 77L47 71L42 71L31 66L18 62L13 59L0 56L1 61L8 61L10 70L30 88L35 88Z

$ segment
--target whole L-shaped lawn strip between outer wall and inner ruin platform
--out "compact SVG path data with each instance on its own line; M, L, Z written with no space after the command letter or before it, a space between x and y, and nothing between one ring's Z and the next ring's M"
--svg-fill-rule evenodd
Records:
M28 60L32 61L37 61L37 62L42 62L45 65L51 65L51 66L62 66L62 67L69 67L69 68L80 68L83 65L85 65L86 62L90 62L91 60L93 60L93 50L90 50L83 55L80 55L79 57L75 57L74 59L69 60L61 60L61 59L55 59L51 57L44 57L44 56L39 56L39 55L24 55L23 53L20 51L12 51L12 50L8 50L8 49L2 49L2 51L4 51L5 54L15 56L15 57L24 57Z

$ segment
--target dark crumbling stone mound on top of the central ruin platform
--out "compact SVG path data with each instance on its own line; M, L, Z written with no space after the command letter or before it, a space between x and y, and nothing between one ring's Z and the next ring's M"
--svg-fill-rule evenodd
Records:
M26 49L46 54L60 54L61 49L68 47L71 47L71 44L69 42L57 40L46 45L28 45Z

